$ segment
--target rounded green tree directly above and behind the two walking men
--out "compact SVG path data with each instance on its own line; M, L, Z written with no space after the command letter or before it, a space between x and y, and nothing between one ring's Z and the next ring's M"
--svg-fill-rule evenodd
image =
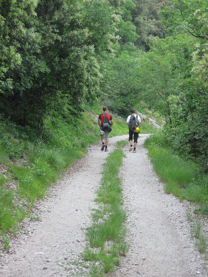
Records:
M108 96L108 108L127 116L139 103L138 74L135 70L141 51L132 43L115 46L115 56L108 59L101 89Z

